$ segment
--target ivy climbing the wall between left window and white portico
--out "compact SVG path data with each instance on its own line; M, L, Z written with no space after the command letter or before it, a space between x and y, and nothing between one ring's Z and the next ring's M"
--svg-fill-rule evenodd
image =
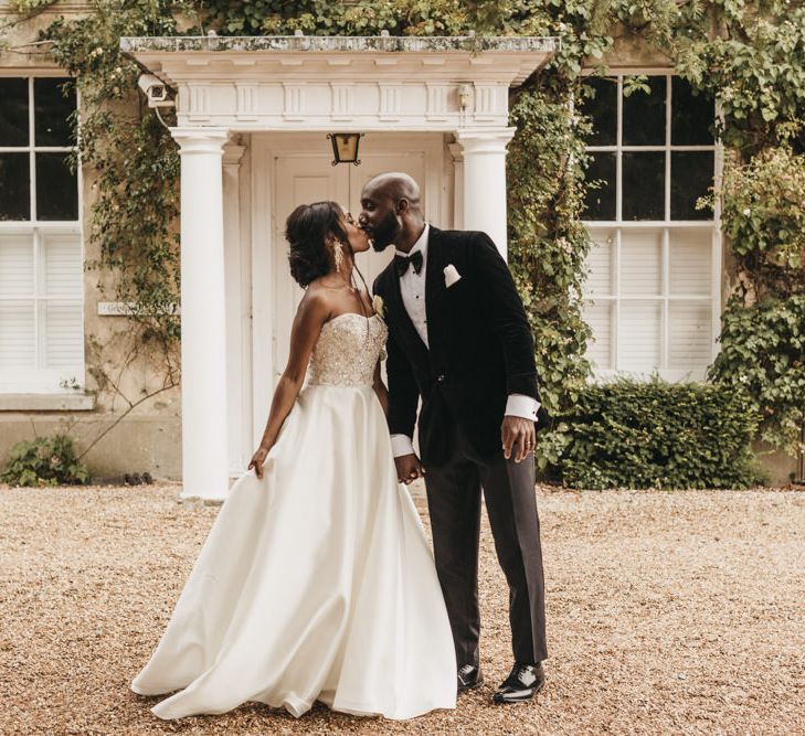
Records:
M44 32L53 60L76 78L75 163L95 194L91 238L100 256L89 268L115 275L114 297L130 303L146 340L165 349L179 338L179 156L168 131L137 92L141 73L118 51L123 35L171 35L177 22L159 2L103 2ZM102 278L99 288L108 287Z

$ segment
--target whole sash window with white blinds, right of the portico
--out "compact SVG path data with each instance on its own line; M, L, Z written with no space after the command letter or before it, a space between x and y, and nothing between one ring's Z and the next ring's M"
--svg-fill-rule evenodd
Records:
M713 104L669 74L631 94L625 79L587 79L582 104L594 128L587 179L600 184L584 214L587 356L599 375L701 378L720 310L717 213L696 209L716 172Z

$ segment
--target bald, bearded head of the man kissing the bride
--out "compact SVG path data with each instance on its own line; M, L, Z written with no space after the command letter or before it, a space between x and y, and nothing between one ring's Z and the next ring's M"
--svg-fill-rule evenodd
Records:
M424 227L420 185L401 171L370 179L361 191L359 222L375 250L384 250L392 243L406 250Z

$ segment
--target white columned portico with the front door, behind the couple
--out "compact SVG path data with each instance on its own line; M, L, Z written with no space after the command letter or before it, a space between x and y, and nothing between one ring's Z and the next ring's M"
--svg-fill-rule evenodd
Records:
M402 170L441 227L506 255L508 94L551 56L536 38L139 38L121 49L177 90L181 153L184 498L221 500L266 420L299 299L284 221L300 202L357 207ZM366 134L360 167L327 132ZM370 281L391 254L359 262Z

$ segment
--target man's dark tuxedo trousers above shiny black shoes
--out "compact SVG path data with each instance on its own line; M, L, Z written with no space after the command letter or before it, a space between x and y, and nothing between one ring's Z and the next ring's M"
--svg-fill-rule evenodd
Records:
M458 666L478 664L481 487L498 562L509 584L515 660L547 659L533 455L529 454L519 463L507 460L502 452L499 459L484 460L456 428L447 462L425 470L436 572L447 605Z

